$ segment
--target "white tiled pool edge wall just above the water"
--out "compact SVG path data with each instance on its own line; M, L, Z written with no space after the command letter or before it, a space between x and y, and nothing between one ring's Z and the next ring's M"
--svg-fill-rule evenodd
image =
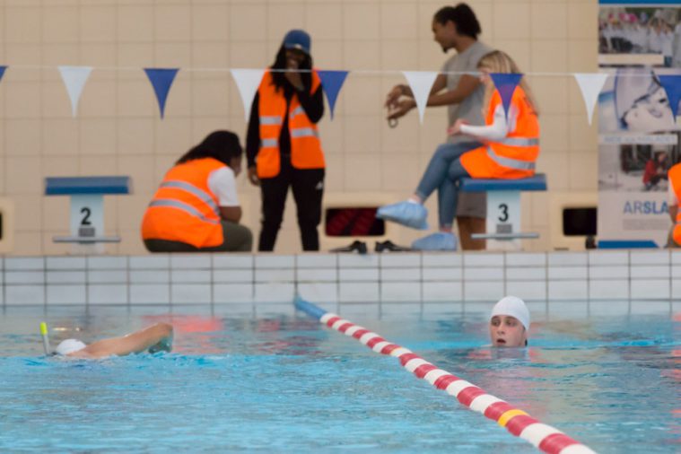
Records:
M670 301L681 252L154 255L0 259L0 298L23 304Z

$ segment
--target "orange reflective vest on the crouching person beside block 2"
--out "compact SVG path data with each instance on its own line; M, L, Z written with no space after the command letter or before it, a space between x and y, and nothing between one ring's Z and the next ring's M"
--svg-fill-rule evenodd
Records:
M144 213L142 238L180 241L196 248L223 244L218 199L208 188L208 177L224 166L204 158L168 170Z

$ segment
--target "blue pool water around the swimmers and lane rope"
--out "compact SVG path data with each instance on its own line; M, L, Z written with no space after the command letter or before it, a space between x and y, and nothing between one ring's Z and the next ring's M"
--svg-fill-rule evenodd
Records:
M483 310L405 308L378 317L355 307L345 317L599 452L678 450L681 318L674 311L533 309L530 347L493 351L484 346ZM0 452L536 452L395 358L283 312L6 308ZM170 320L175 352L46 359L37 335L43 319L54 344Z

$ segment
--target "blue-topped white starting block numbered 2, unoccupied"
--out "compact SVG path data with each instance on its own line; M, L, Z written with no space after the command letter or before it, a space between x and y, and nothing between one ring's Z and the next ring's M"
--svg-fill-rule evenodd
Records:
M104 235L104 196L131 193L130 177L46 178L46 196L71 196L71 235L53 240L74 243L74 253L102 253L99 243L120 242L120 237Z

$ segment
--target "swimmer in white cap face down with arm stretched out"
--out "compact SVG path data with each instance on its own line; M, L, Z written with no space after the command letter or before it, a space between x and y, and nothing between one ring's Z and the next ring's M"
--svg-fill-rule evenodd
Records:
M172 325L156 323L126 336L111 337L85 345L77 339L66 339L57 345L55 354L70 358L98 359L126 356L148 350L150 354L172 350Z

